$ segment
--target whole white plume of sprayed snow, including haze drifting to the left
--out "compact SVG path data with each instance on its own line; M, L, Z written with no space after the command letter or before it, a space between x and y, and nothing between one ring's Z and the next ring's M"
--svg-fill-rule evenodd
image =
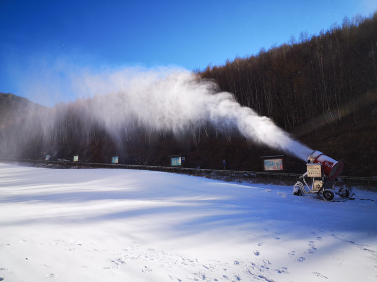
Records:
M8 131L0 132L6 140L2 141L3 151L18 150L24 140L37 142L40 136L45 143L70 135L90 139L95 128L120 137L124 136L120 132L127 135L140 127L178 135L212 124L220 130L237 128L248 140L304 161L313 152L267 117L242 107L231 93L219 92L214 82L200 80L184 69L125 68L101 74L76 72L70 77L68 88L86 98L57 104L52 110L32 107L19 118L17 130L8 126ZM67 116L72 117L75 128L68 124Z

